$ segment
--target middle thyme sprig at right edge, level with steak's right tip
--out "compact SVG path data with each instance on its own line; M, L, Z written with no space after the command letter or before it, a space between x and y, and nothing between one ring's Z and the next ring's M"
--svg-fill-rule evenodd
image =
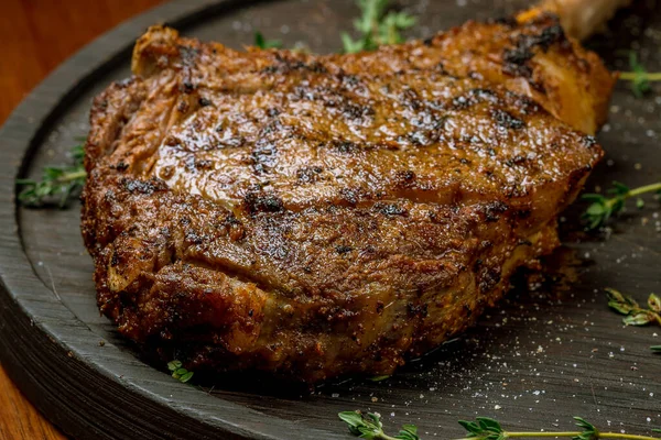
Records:
M592 201L582 217L586 222L587 229L595 229L604 226L608 219L620 212L625 208L625 201L632 197L636 198L636 207L642 209L644 207L644 200L639 196L646 193L661 194L661 182L644 185L635 189L631 189L619 182L614 182L613 188L607 191L611 197L606 197L600 194L584 194L582 199Z

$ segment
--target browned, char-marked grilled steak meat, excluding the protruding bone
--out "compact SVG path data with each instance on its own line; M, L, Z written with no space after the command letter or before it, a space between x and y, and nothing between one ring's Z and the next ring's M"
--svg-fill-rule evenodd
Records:
M306 382L392 373L552 251L613 86L543 14L329 56L152 28L133 73L86 145L101 311L189 370Z

